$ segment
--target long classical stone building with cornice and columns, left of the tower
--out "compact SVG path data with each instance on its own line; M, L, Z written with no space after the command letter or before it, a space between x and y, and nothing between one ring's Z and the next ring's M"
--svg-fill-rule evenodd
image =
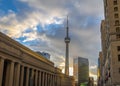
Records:
M0 33L0 86L74 86L54 63Z

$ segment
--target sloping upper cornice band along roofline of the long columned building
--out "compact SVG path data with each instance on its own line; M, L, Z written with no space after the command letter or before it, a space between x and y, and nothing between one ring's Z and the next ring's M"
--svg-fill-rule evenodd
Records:
M18 43L17 41L11 39L10 37L4 35L3 33L0 32L0 42L5 43L6 45L13 47L16 50L19 50L20 52L27 54L35 59L38 59L42 62L45 62L51 66L54 65L53 62L49 61L48 59L44 58L42 55L38 55L37 53L33 52L29 48L23 46L22 44ZM9 49L6 51L11 52ZM13 53L13 52L12 52Z

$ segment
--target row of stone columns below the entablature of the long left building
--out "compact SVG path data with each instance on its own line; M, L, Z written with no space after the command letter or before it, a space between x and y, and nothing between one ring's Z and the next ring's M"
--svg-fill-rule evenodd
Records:
M60 86L58 83L60 77L55 74L0 57L0 86Z

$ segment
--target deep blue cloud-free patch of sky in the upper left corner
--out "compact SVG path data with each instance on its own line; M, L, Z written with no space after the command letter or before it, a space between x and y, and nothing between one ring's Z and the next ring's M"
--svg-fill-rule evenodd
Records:
M8 14L10 11L15 13L23 13L25 10L30 10L30 7L19 0L0 0L0 10L4 11L4 14Z

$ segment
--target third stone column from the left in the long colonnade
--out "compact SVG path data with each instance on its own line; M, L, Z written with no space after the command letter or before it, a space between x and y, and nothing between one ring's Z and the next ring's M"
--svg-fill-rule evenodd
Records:
M14 73L14 86L19 86L19 78L20 78L20 64L15 64L15 73Z

